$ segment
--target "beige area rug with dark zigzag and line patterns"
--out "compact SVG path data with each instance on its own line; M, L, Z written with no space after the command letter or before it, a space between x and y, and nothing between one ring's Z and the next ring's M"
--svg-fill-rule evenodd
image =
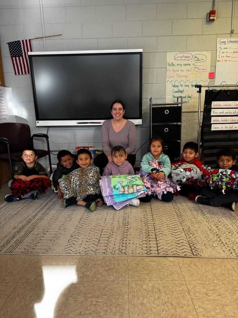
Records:
M0 253L238 257L238 218L184 197L116 211L64 209L52 192L0 206Z

